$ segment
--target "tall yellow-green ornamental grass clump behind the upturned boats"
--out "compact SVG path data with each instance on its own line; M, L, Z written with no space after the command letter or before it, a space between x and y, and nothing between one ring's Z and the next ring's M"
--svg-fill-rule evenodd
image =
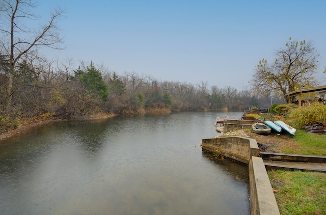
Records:
M286 115L286 122L294 128L305 128L314 122L322 122L326 126L326 105L315 102L308 106L291 109Z

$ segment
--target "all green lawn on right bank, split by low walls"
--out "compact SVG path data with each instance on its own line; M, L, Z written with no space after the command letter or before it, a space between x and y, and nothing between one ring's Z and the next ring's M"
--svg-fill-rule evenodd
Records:
M283 117L263 115L266 120ZM292 120L293 121L293 120ZM280 140L278 153L326 156L326 135L317 135L297 129L294 137L270 137ZM274 140L273 140L274 141ZM288 170L268 171L270 183L281 214L326 214L326 174Z

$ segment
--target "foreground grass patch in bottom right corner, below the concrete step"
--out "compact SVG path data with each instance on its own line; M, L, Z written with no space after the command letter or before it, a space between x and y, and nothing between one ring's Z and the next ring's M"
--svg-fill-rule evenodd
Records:
M268 171L281 214L326 214L326 174Z

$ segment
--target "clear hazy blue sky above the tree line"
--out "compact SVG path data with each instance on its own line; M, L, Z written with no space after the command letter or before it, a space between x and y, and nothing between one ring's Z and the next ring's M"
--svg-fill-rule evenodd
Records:
M66 49L48 58L104 65L118 74L210 86L249 86L259 60L292 40L313 41L316 77L326 85L326 1L39 1L67 10L59 22Z

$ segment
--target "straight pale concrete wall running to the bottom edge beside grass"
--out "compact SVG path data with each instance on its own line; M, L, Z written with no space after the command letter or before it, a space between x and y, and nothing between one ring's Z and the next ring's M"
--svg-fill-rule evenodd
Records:
M249 163L251 214L280 214L261 157L253 156Z

